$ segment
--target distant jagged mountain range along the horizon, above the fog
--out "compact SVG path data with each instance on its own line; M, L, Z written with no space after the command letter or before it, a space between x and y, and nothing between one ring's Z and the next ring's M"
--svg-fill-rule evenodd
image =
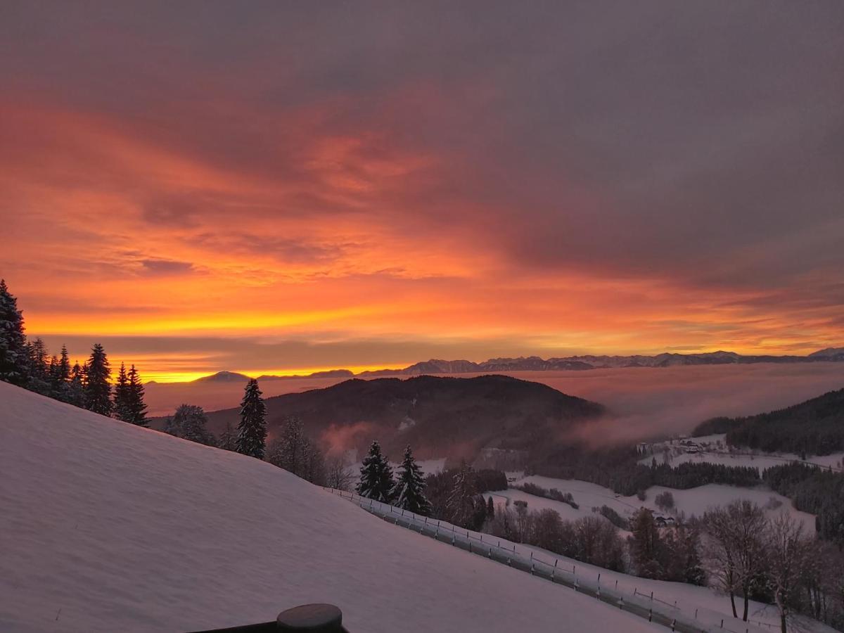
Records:
M844 348L820 349L806 356L773 356L770 354L736 354L735 352L705 352L702 354L663 353L654 356L641 354L631 356L593 355L564 356L542 359L539 356L519 356L517 358L493 358L476 363L472 360L423 360L404 368L381 369L375 371L353 371L338 369L317 371L307 376L258 376L259 381L288 380L292 378L343 378L377 376L421 376L425 374L472 374L496 371L586 371L592 369L624 367L676 367L680 365L749 365L752 363L811 363L844 362ZM203 376L192 382L242 381L249 376L233 371L219 371L211 376ZM153 381L151 381L153 382Z

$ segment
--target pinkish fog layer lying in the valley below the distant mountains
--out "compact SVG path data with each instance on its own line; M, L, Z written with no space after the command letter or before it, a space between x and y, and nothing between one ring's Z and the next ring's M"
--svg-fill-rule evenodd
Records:
M501 372L508 373L508 372ZM787 407L844 387L844 363L760 363L589 371L514 371L522 380L602 403L611 415L582 429L590 441L629 441L687 433L717 415L749 415ZM457 377L477 376L459 374ZM407 378L408 376L399 376ZM265 398L331 387L344 378L287 378L261 382ZM170 414L181 403L207 411L240 403L240 382L154 383L150 414Z

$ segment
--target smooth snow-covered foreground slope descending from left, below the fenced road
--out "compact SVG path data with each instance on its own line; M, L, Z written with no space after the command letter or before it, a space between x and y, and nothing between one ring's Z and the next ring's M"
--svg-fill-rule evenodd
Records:
M656 625L267 463L0 382L0 630L178 631L329 602L353 633Z

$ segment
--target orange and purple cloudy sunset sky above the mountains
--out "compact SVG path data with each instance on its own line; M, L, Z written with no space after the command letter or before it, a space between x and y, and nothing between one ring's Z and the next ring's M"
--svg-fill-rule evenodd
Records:
M145 378L844 345L844 3L0 2L0 277Z

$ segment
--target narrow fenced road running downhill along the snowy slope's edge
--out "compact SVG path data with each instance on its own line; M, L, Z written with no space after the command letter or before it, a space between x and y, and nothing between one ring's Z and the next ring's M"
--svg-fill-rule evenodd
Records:
M632 592L625 592L624 587L619 589L618 580L610 582L610 584L607 584L604 580L602 583L601 572L595 572L586 565L578 571L576 564L571 564L566 560L555 559L553 562L543 560L531 549L525 547L524 544L518 544L517 548L517 544L504 538L472 532L439 519L422 517L413 512L390 506L387 503L361 497L354 492L332 488L325 490L354 502L376 515L376 517L381 517L381 519L394 525L406 527L441 543L451 544L454 547L465 549L471 554L484 556L520 571L526 571L532 576L539 576L555 584L570 587L576 592L584 593L617 609L638 615L649 622L666 626L670 630L681 631L682 633L770 631L770 628L760 628L760 625L770 627L767 623L730 622L729 619L723 618L721 614L716 614L708 609L695 609L694 614L692 614L690 611L681 609L676 601L662 600L655 596L653 592L640 592L638 587L634 587ZM597 573L597 577L592 576L593 573ZM737 625L740 625L740 629L730 628Z

